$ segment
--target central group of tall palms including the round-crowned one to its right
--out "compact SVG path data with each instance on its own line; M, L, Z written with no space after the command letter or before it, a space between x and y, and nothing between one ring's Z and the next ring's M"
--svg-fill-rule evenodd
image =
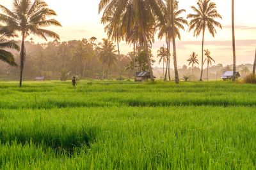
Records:
M166 61L164 80L167 79L168 70L170 79L170 45L172 43L176 83L179 83L179 73L175 39L180 39L180 29L184 30L184 25L188 25L188 31L194 30L194 36L197 37L202 34L202 71L200 76L202 81L205 31L208 30L214 37L216 34L215 27L221 28L220 22L215 20L216 18L221 19L221 15L218 14L216 4L211 0L198 0L197 6L191 6L191 8L194 13L188 15L187 18L190 19L188 23L186 18L180 17L180 14L184 13L185 10L179 9L177 0L101 0L99 3L99 13L103 11L102 23L106 25L105 31L108 32L109 38L117 43L123 39L127 43L133 44L134 53L137 44L145 48L152 81L154 81L154 75L148 48L152 46L156 32L159 32L159 39L165 38L167 45L167 56L166 58L162 56L163 60ZM118 53L120 53L119 48Z

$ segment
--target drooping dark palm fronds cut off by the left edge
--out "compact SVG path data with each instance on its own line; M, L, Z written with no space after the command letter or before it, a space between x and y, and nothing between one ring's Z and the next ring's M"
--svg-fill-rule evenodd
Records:
M17 37L16 34L10 32L7 27L0 27L0 60L10 64L10 66L17 67L17 63L15 62L14 56L11 52L3 50L5 48L10 48L19 51L20 47L17 45L16 41L8 40L9 38Z

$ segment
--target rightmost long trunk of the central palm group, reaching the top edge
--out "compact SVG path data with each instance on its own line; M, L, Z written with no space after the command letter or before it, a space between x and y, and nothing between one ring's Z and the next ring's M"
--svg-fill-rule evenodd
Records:
M173 45L173 64L174 64L174 73L175 73L175 82L179 84L179 73L177 68L177 54L176 54L176 42L175 42L175 33L174 33L174 12L173 12L173 0L171 0L171 13L172 13L172 45Z

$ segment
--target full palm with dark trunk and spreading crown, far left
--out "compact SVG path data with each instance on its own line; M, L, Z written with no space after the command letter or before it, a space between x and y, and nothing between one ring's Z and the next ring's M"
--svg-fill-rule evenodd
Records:
M54 10L48 8L47 3L42 0L15 0L13 1L13 11L0 5L4 14L0 14L0 22L8 25L10 30L21 32L22 43L20 50L20 87L22 86L22 74L24 69L24 60L26 57L26 48L24 41L30 34L35 34L40 38L47 40L47 36L60 39L55 32L42 27L56 25L61 26L60 22L47 17L56 16Z

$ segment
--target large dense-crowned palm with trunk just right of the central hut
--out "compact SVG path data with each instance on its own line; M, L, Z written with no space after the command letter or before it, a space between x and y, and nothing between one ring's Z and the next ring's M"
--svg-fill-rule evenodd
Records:
M163 22L161 5L163 5L161 0L101 0L99 3L99 12L105 9L104 13L113 15L113 20L116 21L120 17L127 18L127 20L121 19L122 25L124 25L123 28L125 28L126 39L130 39L132 43L138 41L143 43L147 54L151 81L154 81L154 75L148 49L148 42L150 42L148 37L154 39L154 32L156 31L154 25L156 25L157 18ZM132 30L136 31L134 38L131 38L131 32L134 33Z

